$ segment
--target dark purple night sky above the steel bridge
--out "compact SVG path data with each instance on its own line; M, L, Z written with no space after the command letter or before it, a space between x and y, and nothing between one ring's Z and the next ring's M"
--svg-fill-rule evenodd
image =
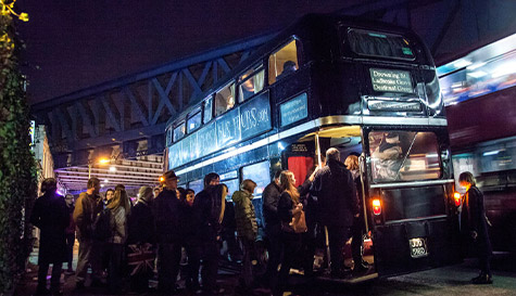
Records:
M278 30L309 12L358 0L18 0L30 21L22 70L30 103L143 72L241 38Z

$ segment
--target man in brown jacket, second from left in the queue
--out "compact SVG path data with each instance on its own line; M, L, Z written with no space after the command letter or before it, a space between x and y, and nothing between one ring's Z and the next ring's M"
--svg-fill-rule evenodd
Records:
M74 221L77 227L77 241L79 241L79 254L75 273L76 288L84 288L88 265L91 266L91 285L101 285L100 255L102 245L93 241L93 222L97 215L102 211L103 203L99 195L100 180L90 178L86 192L79 194L75 203Z

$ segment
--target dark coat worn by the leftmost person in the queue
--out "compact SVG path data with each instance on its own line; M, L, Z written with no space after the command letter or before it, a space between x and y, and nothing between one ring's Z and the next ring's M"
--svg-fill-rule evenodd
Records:
M39 265L67 260L65 229L68 222L70 213L63 196L48 193L36 200L30 215L30 223L41 231Z

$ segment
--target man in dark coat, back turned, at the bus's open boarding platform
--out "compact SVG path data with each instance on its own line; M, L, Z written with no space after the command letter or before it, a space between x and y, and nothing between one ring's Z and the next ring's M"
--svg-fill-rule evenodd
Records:
M340 162L337 149L326 152L326 166L315 173L310 192L318 197L318 217L328 230L331 275L342 276L342 247L358 215L358 198L353 176Z

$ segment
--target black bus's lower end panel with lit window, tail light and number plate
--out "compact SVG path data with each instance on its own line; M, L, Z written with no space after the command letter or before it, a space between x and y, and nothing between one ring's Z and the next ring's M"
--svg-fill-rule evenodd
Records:
M365 202L379 276L460 260L453 180L443 178L440 139L435 131L364 130Z

